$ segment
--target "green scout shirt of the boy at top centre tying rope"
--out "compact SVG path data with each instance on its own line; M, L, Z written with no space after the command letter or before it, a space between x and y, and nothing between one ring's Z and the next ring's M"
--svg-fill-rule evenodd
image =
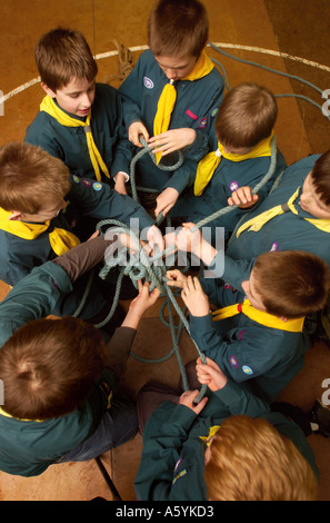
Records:
M157 106L168 78L157 63L150 50L139 58L134 69L122 82L119 92L123 100L123 118L127 128L134 121L142 121L153 136L153 120ZM171 115L169 129L192 128L197 131L194 144L184 150L184 161L176 171L160 170L149 155L137 162L137 185L157 190L172 187L181 193L194 180L197 161L208 152L208 136L223 96L223 80L213 68L199 80L179 80L176 85L177 101ZM163 165L178 161L178 154L162 159Z

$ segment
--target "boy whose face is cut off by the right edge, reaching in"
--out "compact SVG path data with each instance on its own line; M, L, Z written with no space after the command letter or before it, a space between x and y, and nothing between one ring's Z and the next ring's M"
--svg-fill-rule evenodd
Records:
M231 204L252 208L230 237L224 267L223 249L201 243L194 224L183 224L176 237L178 247L200 258L213 276L241 290L256 258L267 251L306 250L330 266L330 150L287 167L260 205L254 206L250 187L232 194ZM172 240L172 235L167 237L168 247Z

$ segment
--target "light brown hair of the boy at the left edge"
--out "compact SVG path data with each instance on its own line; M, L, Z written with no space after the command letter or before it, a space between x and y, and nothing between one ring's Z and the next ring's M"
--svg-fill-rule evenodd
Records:
M40 147L10 142L0 148L0 207L31 215L59 205L71 187L59 158Z

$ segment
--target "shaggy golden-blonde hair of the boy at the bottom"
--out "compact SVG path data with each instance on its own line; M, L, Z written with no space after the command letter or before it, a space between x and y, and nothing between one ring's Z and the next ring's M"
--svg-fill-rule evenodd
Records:
M227 418L204 480L211 501L317 501L316 475L296 445L263 418Z

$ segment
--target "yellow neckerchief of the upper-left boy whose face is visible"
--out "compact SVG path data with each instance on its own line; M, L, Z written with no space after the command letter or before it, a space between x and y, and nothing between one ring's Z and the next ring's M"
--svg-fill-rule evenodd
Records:
M93 135L91 131L91 125L90 125L91 111L89 111L89 115L86 121L72 118L67 112L64 112L49 95L47 95L43 98L42 102L40 103L40 110L48 112L48 115L52 116L61 126L83 127L83 130L86 132L88 151L89 151L89 156L90 156L90 159L91 159L94 172L96 172L97 180L101 181L100 169L106 176L108 176L108 178L110 178L109 170L104 161L102 160L99 149L96 146Z

